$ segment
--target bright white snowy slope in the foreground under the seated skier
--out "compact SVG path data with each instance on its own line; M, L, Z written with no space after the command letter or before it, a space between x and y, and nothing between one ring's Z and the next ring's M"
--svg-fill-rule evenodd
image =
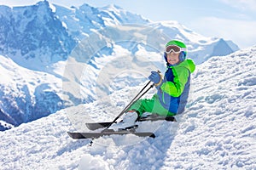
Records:
M133 135L73 140L84 122L112 120L131 99L124 88L112 104L78 105L0 132L1 169L255 169L256 47L198 65L188 110L156 127L155 139ZM153 94L151 91L147 96ZM128 95L129 94L129 95ZM113 105L115 104L115 105ZM107 113L113 111L113 114Z

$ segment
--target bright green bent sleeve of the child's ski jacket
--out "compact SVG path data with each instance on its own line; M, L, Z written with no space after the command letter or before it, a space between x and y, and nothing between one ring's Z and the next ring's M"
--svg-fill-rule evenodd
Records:
M178 67L172 70L173 82L163 82L160 89L172 97L179 97L184 90L185 84L188 82L189 70L185 67Z

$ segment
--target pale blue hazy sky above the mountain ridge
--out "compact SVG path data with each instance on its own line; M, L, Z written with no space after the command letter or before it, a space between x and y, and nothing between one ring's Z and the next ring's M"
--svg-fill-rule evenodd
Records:
M8 6L35 4L39 0L0 0ZM61 6L92 7L116 4L152 21L177 20L183 26L206 37L232 40L239 48L256 45L256 0L49 0Z

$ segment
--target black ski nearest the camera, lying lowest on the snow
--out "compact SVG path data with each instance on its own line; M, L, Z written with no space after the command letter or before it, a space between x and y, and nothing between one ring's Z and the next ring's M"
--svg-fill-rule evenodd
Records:
M117 135L125 135L125 134L134 134L139 137L151 137L155 138L154 133L137 133L137 132L130 132L130 131L106 131L106 132L100 132L100 133L71 133L67 132L68 135L73 139L97 139L102 136L109 136L113 134Z

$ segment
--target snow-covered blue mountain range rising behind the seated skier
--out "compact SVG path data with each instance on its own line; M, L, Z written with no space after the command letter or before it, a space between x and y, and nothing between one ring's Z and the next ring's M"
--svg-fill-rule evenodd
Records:
M153 68L165 70L163 47L172 38L188 44L189 58L197 64L238 49L233 42L203 37L177 21L152 22L115 5L2 5L0 23L1 130L113 94L125 88L122 82L136 87ZM113 82L102 83L106 79L100 73L109 68L134 69L134 74L115 77L108 72ZM143 76L135 73L141 68ZM91 90L95 87L96 92Z

